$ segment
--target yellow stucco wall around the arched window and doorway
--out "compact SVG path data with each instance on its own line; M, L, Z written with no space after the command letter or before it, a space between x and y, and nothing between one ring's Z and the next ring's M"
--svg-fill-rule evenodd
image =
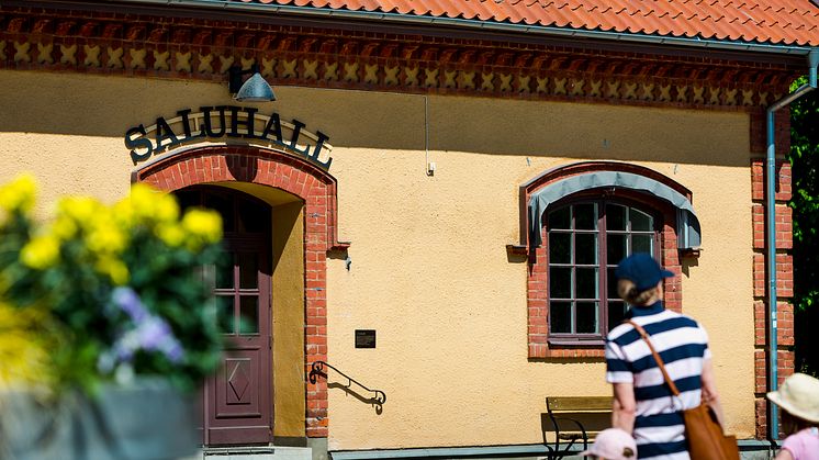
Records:
M21 108L0 113L0 181L33 170L46 199L123 195L127 127L231 102L221 83L0 71L0 106ZM328 360L388 395L379 414L332 388L330 449L538 442L546 395L609 393L599 360L527 359L526 265L505 249L518 186L585 159L637 162L692 190L704 244L684 267L683 308L710 334L728 429L752 436L745 114L430 97L428 177L423 97L276 91L262 111L335 147L339 237L352 245L349 271L328 259ZM358 328L377 329L378 348L355 349Z

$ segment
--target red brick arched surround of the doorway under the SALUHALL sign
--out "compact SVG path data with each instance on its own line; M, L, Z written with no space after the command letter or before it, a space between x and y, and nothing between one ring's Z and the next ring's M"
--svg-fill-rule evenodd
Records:
M336 180L292 155L246 146L213 146L180 153L132 175L168 192L210 182L251 182L273 187L304 202L304 371L327 360L327 251L343 249L336 237ZM307 437L326 437L327 382L305 380Z

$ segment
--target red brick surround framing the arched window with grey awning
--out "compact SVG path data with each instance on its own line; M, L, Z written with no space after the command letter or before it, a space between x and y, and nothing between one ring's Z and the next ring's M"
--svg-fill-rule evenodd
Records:
M543 172L541 176L520 186L521 206L521 234L526 229L526 204L531 194L550 183L572 176L597 171L621 171L640 175L657 180L664 186L680 192L683 197L692 200L688 189L674 180L637 165L617 161L587 161L571 164ZM651 209L661 218L660 226L660 262L675 276L665 280L665 293L663 303L672 311L682 310L682 265L680 262L680 250L676 237L676 209L664 200L657 199L647 193L640 193L628 189L599 189L597 197L607 194L624 200L640 203ZM580 192L588 193L588 191ZM577 194L580 194L577 193ZM576 194L575 194L576 195ZM573 195L574 197L574 195ZM530 248L527 271L527 338L529 359L542 358L602 358L604 350L602 345L554 345L549 344L549 295L548 295L548 270L547 265L547 235L545 227L540 228L543 245Z

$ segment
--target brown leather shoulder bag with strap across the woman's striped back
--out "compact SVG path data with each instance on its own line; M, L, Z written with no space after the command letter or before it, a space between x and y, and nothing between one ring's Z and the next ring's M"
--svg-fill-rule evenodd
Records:
M640 336L649 346L651 355L654 356L654 360L663 373L665 383L674 396L680 396L680 390L677 390L674 381L671 380L671 377L665 371L665 363L660 358L654 346L651 345L646 329L632 321L628 321L627 323L640 333ZM714 413L714 409L707 403L702 402L694 408L683 411L683 419L685 420L685 440L688 444L688 455L693 460L739 460L737 438L734 436L726 436L725 431L722 431L722 426L719 425L717 414Z

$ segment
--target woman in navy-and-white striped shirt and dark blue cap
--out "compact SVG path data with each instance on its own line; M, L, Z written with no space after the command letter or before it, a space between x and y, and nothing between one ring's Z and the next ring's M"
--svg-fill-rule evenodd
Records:
M616 428L631 433L639 459L688 459L682 411L719 404L708 336L693 318L663 307L664 270L648 254L624 259L615 272L620 298L631 305L627 317L642 326L665 362L680 396L673 396L651 350L635 327L624 323L606 337L606 380L614 386Z

